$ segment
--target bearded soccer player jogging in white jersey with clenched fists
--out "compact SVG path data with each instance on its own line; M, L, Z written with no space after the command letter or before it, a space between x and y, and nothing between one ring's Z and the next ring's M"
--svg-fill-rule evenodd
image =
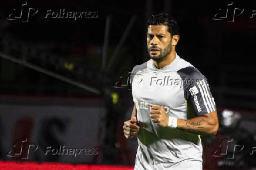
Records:
M177 22L167 13L147 21L150 60L130 76L134 107L124 122L127 139L137 135L134 169L202 169L200 134L216 134L218 118L206 77L180 58Z

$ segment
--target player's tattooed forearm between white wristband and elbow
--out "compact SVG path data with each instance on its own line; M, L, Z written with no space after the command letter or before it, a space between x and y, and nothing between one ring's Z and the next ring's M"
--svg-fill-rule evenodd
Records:
M218 120L210 119L207 116L198 116L193 119L178 119L177 129L193 134L216 134Z

